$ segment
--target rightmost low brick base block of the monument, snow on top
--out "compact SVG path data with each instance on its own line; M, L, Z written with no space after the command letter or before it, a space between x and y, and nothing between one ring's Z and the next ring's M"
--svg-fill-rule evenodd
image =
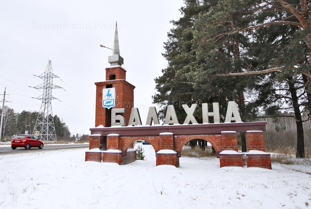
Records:
M245 154L247 167L272 169L270 154Z

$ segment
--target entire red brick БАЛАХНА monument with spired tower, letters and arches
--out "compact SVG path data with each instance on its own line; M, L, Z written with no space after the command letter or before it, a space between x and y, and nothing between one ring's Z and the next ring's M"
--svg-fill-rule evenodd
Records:
M190 140L206 140L216 150L220 167L262 167L271 169L270 154L265 152L264 132L267 122L242 122L236 103L228 102L225 122L220 123L218 103L202 104L203 123L193 116L197 104L182 105L186 118L183 124L173 105L168 105L165 121L160 125L155 107L149 107L143 125L139 110L133 107L135 86L126 81L126 70L121 67L118 31L116 27L113 55L108 58L106 81L96 82L95 127L90 128L89 151L86 161L114 162L120 165L136 160L134 141L149 142L156 152L156 166L179 167L183 146ZM213 123L210 123L213 121ZM153 125L152 125L153 124ZM246 133L247 152L238 152L238 132Z

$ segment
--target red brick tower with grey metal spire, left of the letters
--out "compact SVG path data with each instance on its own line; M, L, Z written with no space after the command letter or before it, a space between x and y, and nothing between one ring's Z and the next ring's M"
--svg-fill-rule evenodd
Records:
M101 45L102 46L102 45ZM118 113L126 119L126 125L130 118L134 103L134 88L125 80L126 70L121 67L123 58L120 56L117 24L114 34L114 47L112 56L108 57L110 67L106 68L106 81L96 82L96 113L95 127L103 125L111 126L111 109L103 107L103 89L115 87L115 106L113 108L125 108L126 113Z

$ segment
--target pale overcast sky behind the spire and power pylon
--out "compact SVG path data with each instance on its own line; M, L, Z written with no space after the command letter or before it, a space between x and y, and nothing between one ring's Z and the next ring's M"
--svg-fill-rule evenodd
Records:
M182 0L2 0L0 92L7 87L12 106L7 105L17 112L39 111L41 102L31 97L41 92L27 86L42 82L33 75L42 74L51 60L53 73L63 80L54 79L54 84L66 90L53 89L53 96L61 100L52 101L53 114L63 118L72 134L90 133L89 128L95 126L94 82L105 80L112 54L99 45L113 47L118 21L122 66L127 81L136 86L134 103L145 123L146 106L152 104L156 92L154 78L167 66L161 53L173 27L169 21L179 19L182 6Z

